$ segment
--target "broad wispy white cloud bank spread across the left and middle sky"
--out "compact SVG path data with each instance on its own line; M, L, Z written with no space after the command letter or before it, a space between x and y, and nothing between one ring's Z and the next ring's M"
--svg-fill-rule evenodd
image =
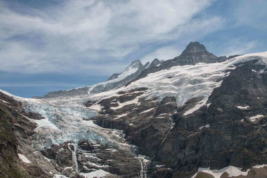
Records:
M42 10L20 5L23 13L2 2L0 71L120 72L135 60L128 59L129 54L139 53L151 44L168 43L189 34L199 37L218 29L222 18L194 17L211 2L66 1ZM142 60L175 57L177 50L172 49L158 49Z

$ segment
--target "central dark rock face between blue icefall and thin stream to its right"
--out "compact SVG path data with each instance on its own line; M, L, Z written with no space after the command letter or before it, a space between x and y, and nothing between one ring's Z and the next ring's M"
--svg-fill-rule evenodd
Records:
M137 94L135 96L129 91L120 98L124 101L133 100L142 93L134 93ZM107 100L101 100L99 103L105 103L103 109L106 111L102 113L105 117L98 117L95 123L104 128L123 130L129 144L139 148L138 153L153 156L157 146L172 126L171 114L177 107L175 99L167 97L160 103L156 98L139 99L140 104L126 105L115 110L111 109L113 107L109 103L103 101Z

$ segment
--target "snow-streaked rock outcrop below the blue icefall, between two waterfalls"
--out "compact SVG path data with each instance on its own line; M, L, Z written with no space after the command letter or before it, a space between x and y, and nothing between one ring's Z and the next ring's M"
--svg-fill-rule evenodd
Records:
M85 173L101 169L113 176L130 178L140 175L141 166L133 153L117 150L98 141L79 141L77 159L81 171Z

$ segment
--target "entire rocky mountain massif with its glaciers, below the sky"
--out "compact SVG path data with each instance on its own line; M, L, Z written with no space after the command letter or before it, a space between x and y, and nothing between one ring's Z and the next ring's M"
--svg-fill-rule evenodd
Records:
M267 177L266 63L190 42L93 86L1 90L0 177Z

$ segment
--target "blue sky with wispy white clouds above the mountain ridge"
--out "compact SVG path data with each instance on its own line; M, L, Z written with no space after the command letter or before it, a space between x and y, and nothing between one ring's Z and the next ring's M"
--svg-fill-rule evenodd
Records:
M266 0L0 0L0 89L91 86L198 41L216 56L267 51Z

